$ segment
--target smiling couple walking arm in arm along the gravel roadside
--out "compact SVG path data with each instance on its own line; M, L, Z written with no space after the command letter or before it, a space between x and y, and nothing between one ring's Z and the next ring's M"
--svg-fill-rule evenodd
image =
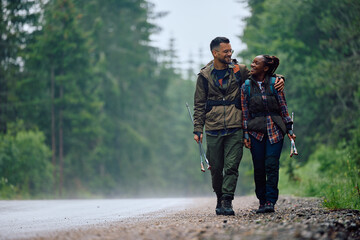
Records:
M194 140L202 141L205 127L207 158L217 215L234 215L232 200L243 145L254 165L257 213L274 212L278 199L279 158L285 134L291 131L285 101L284 79L274 75L275 56L259 55L251 70L232 59L229 39L210 43L214 59L200 70L194 95Z

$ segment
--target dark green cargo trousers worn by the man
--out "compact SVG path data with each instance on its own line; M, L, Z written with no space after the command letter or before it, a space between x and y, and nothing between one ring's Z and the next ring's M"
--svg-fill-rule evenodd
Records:
M206 142L214 192L233 199L243 154L243 130L226 136L206 135Z

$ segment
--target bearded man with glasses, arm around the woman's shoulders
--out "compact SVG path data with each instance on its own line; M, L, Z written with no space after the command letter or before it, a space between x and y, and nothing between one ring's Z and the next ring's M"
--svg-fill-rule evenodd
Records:
M207 158L211 166L212 187L217 196L217 215L235 215L232 200L243 154L241 85L249 70L231 59L229 39L216 37L210 43L214 59L200 70L194 95L194 140L203 139L205 126ZM277 78L275 88L282 90Z

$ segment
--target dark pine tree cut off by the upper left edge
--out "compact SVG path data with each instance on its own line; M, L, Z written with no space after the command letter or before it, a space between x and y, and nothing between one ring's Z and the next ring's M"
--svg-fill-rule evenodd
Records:
M0 132L7 132L7 124L13 121L16 79L21 74L23 59L21 51L26 46L31 32L36 28L39 13L30 11L38 1L0 1Z

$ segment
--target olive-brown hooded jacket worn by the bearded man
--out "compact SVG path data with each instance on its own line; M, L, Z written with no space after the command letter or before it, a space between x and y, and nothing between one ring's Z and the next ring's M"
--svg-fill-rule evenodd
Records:
M239 64L241 80L238 82L233 70L235 63L237 64L237 61L233 60L233 63L229 64L230 71L225 74L224 78L229 77L225 93L215 86L214 77L211 74L214 69L213 61L200 70L194 94L194 133L202 133L204 126L205 131L242 127L240 87L249 78L249 70L245 65ZM204 87L204 80L207 81L208 91ZM213 106L207 112L208 100L239 102L236 106L235 104Z

